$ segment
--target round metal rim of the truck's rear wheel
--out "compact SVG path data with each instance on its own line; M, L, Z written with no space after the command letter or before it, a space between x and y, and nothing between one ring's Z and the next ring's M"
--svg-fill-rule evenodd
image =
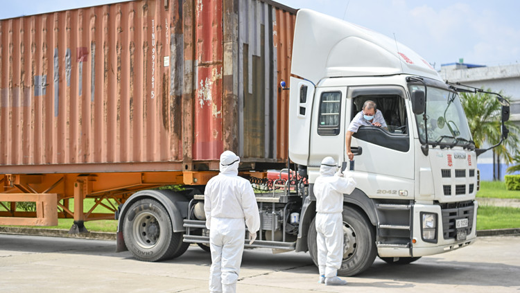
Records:
M144 212L137 215L132 230L137 245L144 249L154 247L161 236L159 222L153 213Z

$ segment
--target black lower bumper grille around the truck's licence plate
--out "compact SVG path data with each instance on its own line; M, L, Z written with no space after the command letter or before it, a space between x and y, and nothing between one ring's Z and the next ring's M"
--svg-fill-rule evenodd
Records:
M458 219L467 218L468 227L461 229L465 229L467 235L471 233L471 229L473 229L474 208L475 206L473 202L459 202L456 204L441 205L442 231L444 234L444 239L456 238L457 231L455 227L455 220Z

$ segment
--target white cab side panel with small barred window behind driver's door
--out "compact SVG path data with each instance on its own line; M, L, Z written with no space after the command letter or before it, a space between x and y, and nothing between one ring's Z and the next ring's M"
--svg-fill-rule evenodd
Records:
M311 123L309 166L319 166L324 157L338 163L345 159L345 103L347 87L316 88Z

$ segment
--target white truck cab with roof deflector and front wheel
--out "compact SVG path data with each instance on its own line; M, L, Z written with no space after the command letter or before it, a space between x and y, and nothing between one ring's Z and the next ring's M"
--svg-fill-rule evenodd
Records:
M367 28L298 10L290 88L289 157L309 176L303 217L313 210L320 161L348 161L345 133L365 100L388 125L352 138L361 154L356 190L345 195L340 273L361 272L376 254L410 263L476 240L476 150L456 91L426 60Z

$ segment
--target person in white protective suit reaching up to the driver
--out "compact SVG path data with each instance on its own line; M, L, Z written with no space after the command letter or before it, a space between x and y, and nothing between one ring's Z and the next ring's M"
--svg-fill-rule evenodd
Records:
M316 231L318 236L318 283L346 285L338 278L343 261L343 195L352 193L356 181L340 172L332 157L323 159L320 177L314 183L316 197Z

